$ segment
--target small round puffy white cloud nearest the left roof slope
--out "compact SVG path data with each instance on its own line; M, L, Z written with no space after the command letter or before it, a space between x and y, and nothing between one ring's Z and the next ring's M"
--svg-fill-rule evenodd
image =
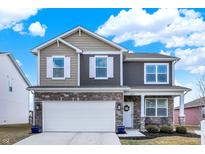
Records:
M42 25L39 21L36 21L32 23L28 29L31 35L43 37L45 35L47 26Z

